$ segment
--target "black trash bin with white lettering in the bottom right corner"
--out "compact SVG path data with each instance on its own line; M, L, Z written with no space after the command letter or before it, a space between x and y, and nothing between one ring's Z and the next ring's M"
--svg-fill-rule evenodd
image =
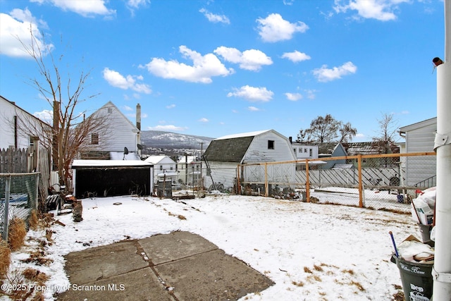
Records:
M404 300L429 301L432 299L433 264L420 264L419 262L407 262L402 258L392 255L391 262L400 270Z

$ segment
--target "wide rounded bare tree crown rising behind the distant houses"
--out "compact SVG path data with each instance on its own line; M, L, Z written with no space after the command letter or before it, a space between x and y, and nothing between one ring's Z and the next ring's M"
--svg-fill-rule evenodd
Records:
M297 142L347 142L357 134L351 123L343 124L330 114L318 116L311 121L310 128L299 130Z

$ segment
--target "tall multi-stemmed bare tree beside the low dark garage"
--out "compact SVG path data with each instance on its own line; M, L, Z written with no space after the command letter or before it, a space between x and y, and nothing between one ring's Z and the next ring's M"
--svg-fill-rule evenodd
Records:
M81 71L74 82L68 74L66 87L64 87L63 76L58 68L58 63L62 62L63 56L56 61L51 53L51 47L45 43L45 40L41 43L33 34L31 27L30 35L30 45L26 45L20 38L18 39L27 54L30 54L35 61L39 75L41 75L40 78L30 79L32 86L53 108L51 135L47 134L44 138L47 139L47 145L52 149L53 169L58 171L59 184L66 185L68 178L71 178L69 168L71 162L81 151L97 147L97 145L92 145L89 134L101 131L106 134L105 125L108 118L101 114L85 118L85 111L79 113L78 110L75 110L81 102L97 96L94 94L86 98L82 97L90 71L86 73ZM42 37L44 37L43 34ZM44 61L46 55L49 57L49 62ZM33 129L33 125L30 124L27 131L32 130L36 129Z

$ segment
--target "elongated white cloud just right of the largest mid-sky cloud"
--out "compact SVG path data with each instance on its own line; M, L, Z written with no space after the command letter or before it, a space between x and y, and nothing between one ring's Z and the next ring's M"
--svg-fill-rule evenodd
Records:
M273 61L264 52L256 49L249 49L241 52L236 48L218 47L213 51L215 54L222 56L230 63L239 63L240 68L245 70L259 71L261 66L271 65Z

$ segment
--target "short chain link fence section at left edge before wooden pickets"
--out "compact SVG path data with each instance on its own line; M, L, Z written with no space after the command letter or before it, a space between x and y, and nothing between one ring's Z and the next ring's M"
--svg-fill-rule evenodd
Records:
M38 205L39 173L0 173L0 232L6 240L9 221L27 221Z

